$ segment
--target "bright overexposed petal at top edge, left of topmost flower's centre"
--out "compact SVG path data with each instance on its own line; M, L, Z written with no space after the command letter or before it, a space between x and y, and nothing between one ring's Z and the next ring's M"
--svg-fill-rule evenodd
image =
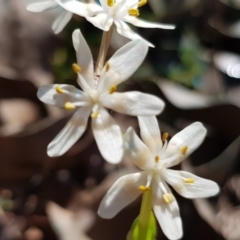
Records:
M55 0L65 10L82 17L88 17L99 11L101 8L95 3L83 3L77 0Z

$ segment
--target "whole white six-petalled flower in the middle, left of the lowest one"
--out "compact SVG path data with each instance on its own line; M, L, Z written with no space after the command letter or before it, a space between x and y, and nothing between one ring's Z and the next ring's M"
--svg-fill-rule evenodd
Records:
M65 128L48 146L49 156L64 154L84 133L88 117L92 117L92 130L102 156L110 163L118 163L123 154L120 127L105 108L137 116L157 115L164 103L159 98L141 92L117 93L117 85L129 78L145 58L148 45L142 40L131 41L119 49L100 72L99 84L94 80L93 59L80 30L73 33L77 52L78 84L74 86L47 85L38 91L38 98L48 104L78 108Z

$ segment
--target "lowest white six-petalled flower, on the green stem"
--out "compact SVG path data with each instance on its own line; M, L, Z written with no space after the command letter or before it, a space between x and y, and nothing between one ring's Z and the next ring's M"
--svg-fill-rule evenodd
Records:
M213 181L168 168L179 164L202 143L206 129L200 122L195 122L168 143L166 134L162 141L155 117L141 116L138 119L144 143L130 127L124 144L125 156L143 171L119 178L103 198L98 213L103 218L112 218L141 191L152 188L153 211L163 232L169 239L180 239L179 208L166 182L186 198L210 197L219 192L219 187Z

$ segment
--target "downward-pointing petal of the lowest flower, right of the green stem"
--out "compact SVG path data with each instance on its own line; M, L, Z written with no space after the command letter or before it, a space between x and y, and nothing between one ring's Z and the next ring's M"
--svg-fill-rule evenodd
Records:
M168 193L171 193L169 187L164 184L164 188ZM175 197L172 195L173 201L166 203L163 199L163 192L159 188L159 183L155 180L152 182L153 186L153 211L162 228L164 234L170 240L180 239L183 235L182 220L179 213L179 207Z

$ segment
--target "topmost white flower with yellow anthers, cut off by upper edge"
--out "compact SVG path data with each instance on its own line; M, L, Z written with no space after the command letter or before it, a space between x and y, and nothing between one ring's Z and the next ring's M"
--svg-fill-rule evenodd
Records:
M81 15L78 13L79 7L78 1L69 0L67 2L63 2L63 0L56 0L57 2L61 2L62 6L69 11ZM95 4L95 8L93 9L93 5L91 8L91 15L86 15L86 19L91 22L97 28L100 28L104 31L108 31L112 24L115 24L117 28L117 32L131 40L142 38L137 33L133 32L131 28L126 24L131 23L136 27L143 28L162 28L162 29L174 29L174 25L168 24L159 24L154 22L147 22L144 20L138 19L139 10L138 8L145 5L147 0L99 0L101 6ZM146 41L146 40L145 40ZM148 41L147 41L148 42ZM153 47L153 45L148 42L148 45Z

